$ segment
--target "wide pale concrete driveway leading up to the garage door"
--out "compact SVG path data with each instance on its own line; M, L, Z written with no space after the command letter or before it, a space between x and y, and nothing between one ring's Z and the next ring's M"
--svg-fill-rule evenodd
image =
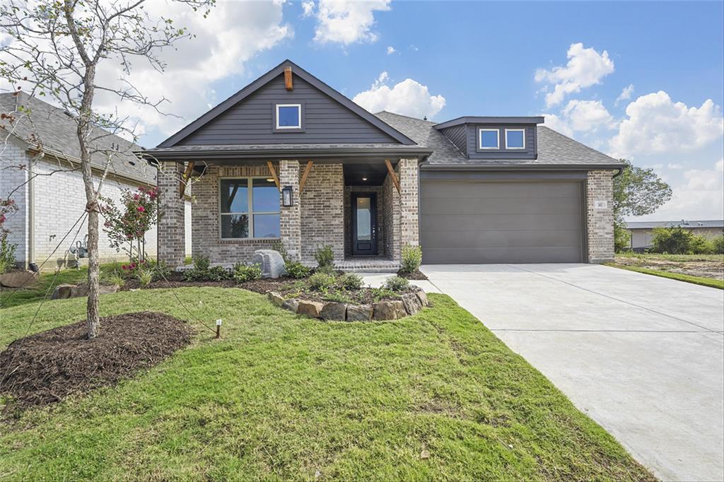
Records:
M724 480L724 292L607 266L427 265L658 477Z

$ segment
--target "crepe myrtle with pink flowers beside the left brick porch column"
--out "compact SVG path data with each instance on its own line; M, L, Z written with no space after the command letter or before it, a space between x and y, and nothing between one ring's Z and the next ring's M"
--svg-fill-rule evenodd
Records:
M134 271L146 264L146 233L156 223L156 187L139 187L138 190L124 190L121 195L122 209L114 200L103 198L102 213L104 231L111 240L111 248L128 255L123 269Z

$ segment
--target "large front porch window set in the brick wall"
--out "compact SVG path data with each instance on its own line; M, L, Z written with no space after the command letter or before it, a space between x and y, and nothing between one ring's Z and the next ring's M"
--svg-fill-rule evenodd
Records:
M222 239L279 237L279 190L273 179L221 180Z

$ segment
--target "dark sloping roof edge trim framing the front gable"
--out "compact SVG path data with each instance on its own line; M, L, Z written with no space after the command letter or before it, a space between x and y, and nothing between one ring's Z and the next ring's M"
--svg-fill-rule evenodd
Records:
M309 72L307 72L305 69L299 67L297 64L292 62L291 60L287 59L281 64L277 65L277 67L274 67L273 69L269 70L269 72L266 72L266 74L262 75L258 79L254 80L251 84L247 85L245 88L239 90L237 93L235 93L230 98L227 98L227 100L223 101L222 103L219 103L218 106L214 107L214 109L211 109L210 111L206 112L206 114L203 114L201 117L196 119L195 121L188 124L186 127L184 127L179 132L176 132L174 135L172 135L167 140L164 140L162 143L158 145L159 148L169 148L173 145L176 145L176 143L180 142L180 140L188 137L191 133L195 132L196 130L200 129L203 125L211 122L211 120L216 119L216 117L219 117L220 114L223 114L228 109L231 109L233 106L235 106L237 103L242 101L244 98L250 96L252 93L256 92L256 90L262 88L264 85L269 83L271 80L274 80L279 75L282 75L284 73L285 67L292 67L292 75L298 75L298 77L302 78L303 80L306 80L306 82L313 85L315 88L321 90L321 92L327 94L327 96L334 99L334 101L337 101L338 103L342 104L342 106L345 106L350 111L353 111L358 116L365 119L370 124L377 127L379 130L382 130L382 132L385 132L387 135L390 135L393 139L397 140L397 142L405 145L411 145L415 142L408 138L406 135L404 135L402 132L399 132L398 130L395 130L395 128L391 127L390 125L386 124L385 122L382 122L380 119L375 117L373 114L370 114L369 111L366 111L362 107L358 106L356 103L351 101L350 99L343 96L341 93L337 92L337 90L334 90L333 88L329 87L329 85L325 84L321 80L319 80L317 77L314 77Z

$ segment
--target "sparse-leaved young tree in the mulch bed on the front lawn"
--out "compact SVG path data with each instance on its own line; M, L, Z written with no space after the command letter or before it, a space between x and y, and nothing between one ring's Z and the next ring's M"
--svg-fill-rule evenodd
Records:
M214 0L172 0L188 7L208 8ZM170 2L169 2L170 3ZM130 83L132 62L149 62L163 70L159 51L188 38L185 28L172 19L153 16L146 0L1 0L0 79L13 90L45 96L68 111L77 124L80 171L85 186L88 213L88 338L98 334L98 203L105 172L93 179L91 158L98 151L95 140L126 133L135 140L128 119L101 114L94 109L96 93L102 91L118 101L158 108L164 99L150 100ZM97 75L101 64L117 64L125 77L104 82ZM42 148L41 142L38 142ZM112 153L107 153L111 156ZM108 163L106 163L106 172Z

